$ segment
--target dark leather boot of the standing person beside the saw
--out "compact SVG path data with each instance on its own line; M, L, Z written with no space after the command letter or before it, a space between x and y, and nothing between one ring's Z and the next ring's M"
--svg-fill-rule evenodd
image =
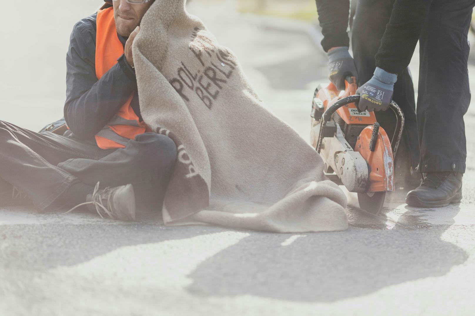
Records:
M442 207L462 199L462 176L459 172L428 172L419 187L409 191L406 203L417 207Z

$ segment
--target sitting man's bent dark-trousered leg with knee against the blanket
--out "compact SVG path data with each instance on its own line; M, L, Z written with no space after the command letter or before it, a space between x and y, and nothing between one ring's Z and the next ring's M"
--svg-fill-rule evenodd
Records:
M165 135L144 133L130 140L123 149L97 160L69 159L58 165L81 182L101 186L132 184L137 207L161 209L165 191L177 159L173 140Z

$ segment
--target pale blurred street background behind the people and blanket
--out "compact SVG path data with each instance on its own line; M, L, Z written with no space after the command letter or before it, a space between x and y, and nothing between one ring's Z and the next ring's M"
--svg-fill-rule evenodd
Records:
M1 120L39 130L63 115L71 30L102 3L28 0L2 4ZM188 10L234 51L269 108L308 140L314 88L328 81L315 1L189 0ZM472 42L473 37L471 33ZM474 62L472 52L471 75L475 74ZM417 51L410 67L417 91ZM473 115L471 107L466 119ZM469 131L470 138L473 133ZM471 141L468 146L473 149Z

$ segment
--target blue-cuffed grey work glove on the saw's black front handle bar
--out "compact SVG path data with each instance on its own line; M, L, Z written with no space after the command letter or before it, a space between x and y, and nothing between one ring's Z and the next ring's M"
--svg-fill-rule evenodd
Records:
M394 84L398 80L397 74L391 74L376 67L373 77L363 84L356 94L360 94L360 101L356 104L360 111L386 111L392 101Z

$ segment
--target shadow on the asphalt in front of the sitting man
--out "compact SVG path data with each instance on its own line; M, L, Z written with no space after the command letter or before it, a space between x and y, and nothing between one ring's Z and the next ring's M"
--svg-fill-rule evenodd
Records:
M148 223L53 223L0 227L0 270L39 272L81 264L126 246L228 231L219 227L164 227Z

